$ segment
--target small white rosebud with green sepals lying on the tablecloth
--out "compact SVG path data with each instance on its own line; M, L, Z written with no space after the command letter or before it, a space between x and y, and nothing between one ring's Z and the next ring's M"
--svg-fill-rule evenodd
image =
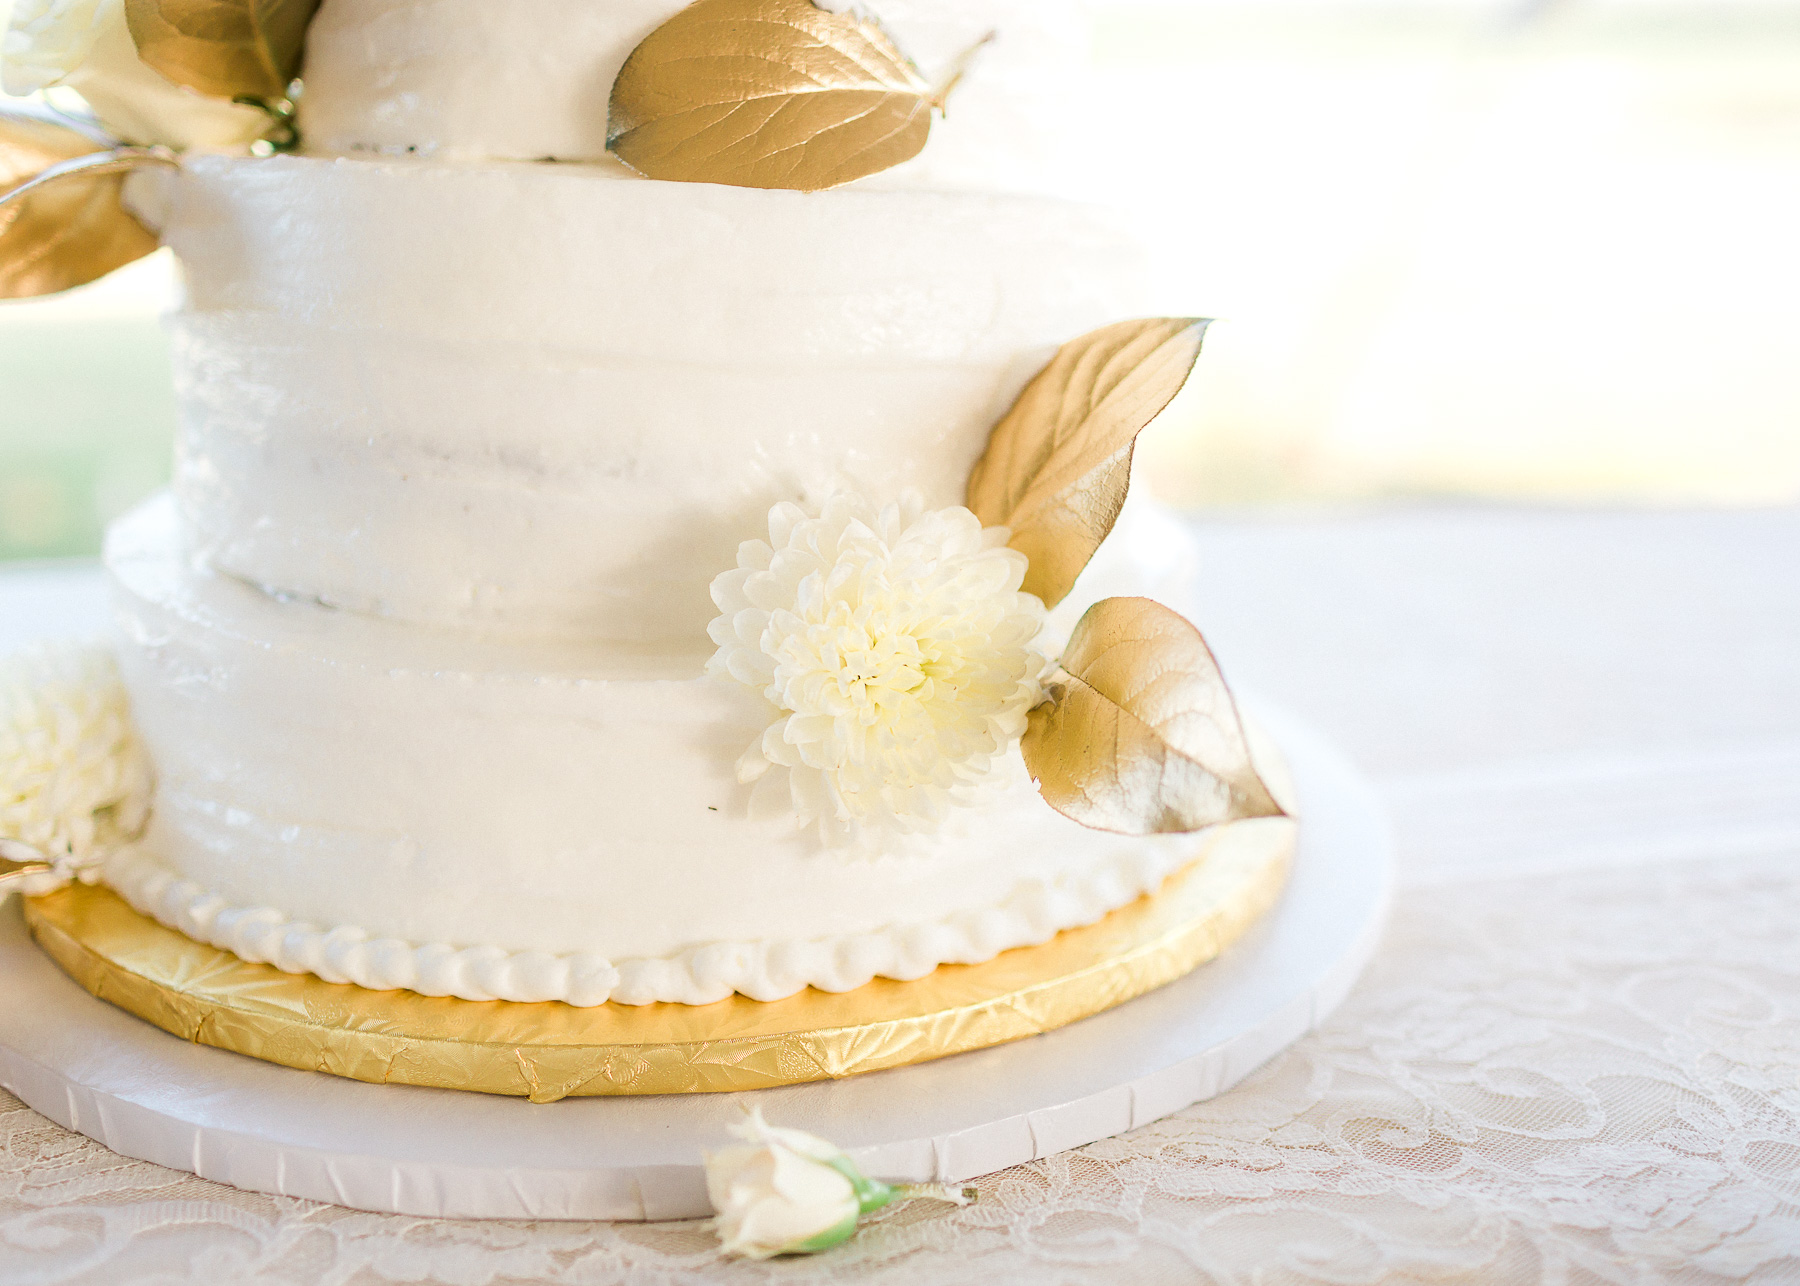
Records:
M706 1191L727 1255L769 1259L826 1250L850 1237L864 1214L895 1200L968 1203L965 1192L936 1183L895 1187L871 1180L826 1140L776 1129L760 1108L751 1108L731 1133L747 1146L706 1156Z

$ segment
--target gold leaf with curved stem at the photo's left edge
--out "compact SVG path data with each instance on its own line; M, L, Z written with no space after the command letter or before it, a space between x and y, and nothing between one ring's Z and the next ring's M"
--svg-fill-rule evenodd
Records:
M173 160L160 148L94 151L76 130L0 112L0 299L81 286L155 250L121 200L142 164Z

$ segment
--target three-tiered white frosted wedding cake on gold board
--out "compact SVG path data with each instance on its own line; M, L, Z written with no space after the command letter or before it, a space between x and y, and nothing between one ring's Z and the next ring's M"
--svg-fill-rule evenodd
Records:
M1193 859L1021 751L1084 609L1179 593L1179 526L1132 501L1046 616L961 508L1058 346L1154 304L1057 195L1073 7L821 4L958 79L916 157L794 191L617 158L684 2L324 0L297 149L131 173L185 279L175 485L106 542L139 911L369 989L704 1005L988 960Z

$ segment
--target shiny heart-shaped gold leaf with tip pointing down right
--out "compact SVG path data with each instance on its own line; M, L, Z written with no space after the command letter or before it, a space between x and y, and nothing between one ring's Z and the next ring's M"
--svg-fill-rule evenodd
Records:
M1148 836L1278 818L1206 639L1148 598L1087 609L1021 742L1057 812Z

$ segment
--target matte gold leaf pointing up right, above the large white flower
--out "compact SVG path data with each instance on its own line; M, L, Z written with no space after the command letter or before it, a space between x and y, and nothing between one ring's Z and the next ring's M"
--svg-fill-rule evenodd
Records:
M1112 531L1138 434L1181 393L1208 322L1157 317L1069 340L994 425L968 508L1012 528L1024 589L1055 607Z

